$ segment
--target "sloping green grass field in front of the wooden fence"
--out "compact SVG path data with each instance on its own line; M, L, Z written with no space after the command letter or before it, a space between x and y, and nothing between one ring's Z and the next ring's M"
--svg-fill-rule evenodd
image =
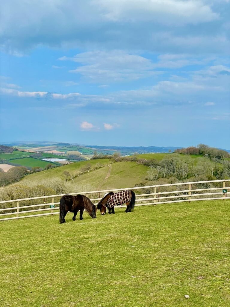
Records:
M229 201L124 210L1 222L0 305L230 306Z

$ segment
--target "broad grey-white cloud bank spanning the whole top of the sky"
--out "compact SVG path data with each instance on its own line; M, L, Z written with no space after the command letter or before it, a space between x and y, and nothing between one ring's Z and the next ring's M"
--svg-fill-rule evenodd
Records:
M82 50L92 46L111 50L119 46L158 54L204 50L210 54L223 53L229 47L228 29L224 28L228 23L228 3L224 0L217 3L217 0L3 1L1 47L15 56L37 46Z

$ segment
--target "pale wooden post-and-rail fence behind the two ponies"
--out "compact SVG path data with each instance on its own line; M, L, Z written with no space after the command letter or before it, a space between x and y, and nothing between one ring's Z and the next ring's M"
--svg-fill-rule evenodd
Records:
M197 188L197 185L201 185L201 188ZM204 186L210 187L204 187ZM219 185L219 186L217 186ZM203 187L202 187L203 186ZM167 185L150 185L144 187L133 187L125 188L127 190L136 190L136 204L135 206L145 206L145 205L156 205L156 204L167 204L167 203L179 203L186 201L197 201L197 200L227 200L230 199L230 179L226 180L214 180L214 181L196 181L196 182L183 182L174 183ZM178 190L179 187L184 189ZM176 188L176 190L173 190ZM164 191L164 190L168 191ZM83 194L90 197L94 204L98 203L106 192L116 192L122 189L114 190L101 190L101 191L88 191L88 192L76 192L70 193L70 195ZM141 194L141 191L144 191ZM140 194L139 194L140 193ZM97 195L97 198L95 197ZM0 201L0 206L5 207L6 204L13 204L13 207L1 208L0 209L0 221L4 220L14 220L22 219L27 217L35 216L47 216L59 214L57 211L59 209L59 198L65 194L31 197L15 200ZM43 199L43 203L40 204L28 204L28 202L34 200ZM50 199L51 202L46 203L45 200ZM55 202L58 200L58 202ZM25 204L26 203L26 204ZM16 204L16 206L15 206ZM58 206L57 206L58 205ZM42 207L42 208L41 208ZM126 206L119 206L126 207ZM40 214L32 214L33 212L47 212ZM2 218L2 216L7 216L7 218ZM13 217L8 217L13 216Z

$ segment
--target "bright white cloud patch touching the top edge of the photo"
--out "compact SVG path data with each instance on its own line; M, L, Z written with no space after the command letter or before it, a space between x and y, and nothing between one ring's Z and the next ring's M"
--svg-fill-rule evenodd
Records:
M104 16L112 21L157 21L164 24L197 24L219 15L202 1L99 0Z

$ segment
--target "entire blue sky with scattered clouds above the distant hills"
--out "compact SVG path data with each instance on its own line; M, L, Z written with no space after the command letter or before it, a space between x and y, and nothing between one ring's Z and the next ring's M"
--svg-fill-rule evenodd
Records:
M229 7L5 1L0 142L230 149Z

